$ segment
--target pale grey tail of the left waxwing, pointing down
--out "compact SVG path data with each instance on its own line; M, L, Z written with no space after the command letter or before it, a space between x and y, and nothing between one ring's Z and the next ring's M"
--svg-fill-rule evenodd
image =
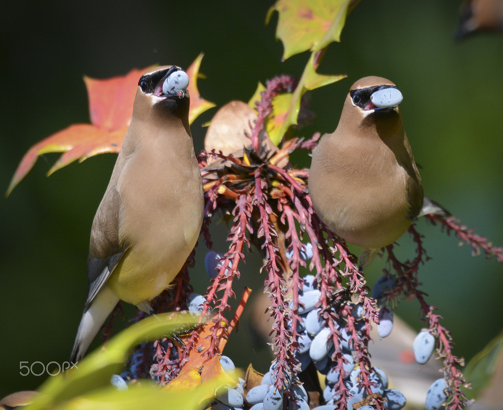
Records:
M117 295L105 283L80 319L70 361L76 363L86 354L89 345L118 302Z

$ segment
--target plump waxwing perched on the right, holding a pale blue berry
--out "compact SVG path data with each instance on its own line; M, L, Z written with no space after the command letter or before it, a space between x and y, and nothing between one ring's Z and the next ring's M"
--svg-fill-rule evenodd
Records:
M361 269L397 240L423 207L401 101L390 80L358 80L337 129L323 135L312 151L309 193L314 209L333 233L364 248Z

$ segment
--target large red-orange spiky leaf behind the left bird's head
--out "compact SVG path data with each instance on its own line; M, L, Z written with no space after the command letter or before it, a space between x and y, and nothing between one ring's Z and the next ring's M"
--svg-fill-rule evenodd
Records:
M199 67L203 55L203 53L199 54L187 69L190 78L188 90L191 96L189 124L192 124L204 111L215 106L201 98L197 89L197 78L200 77ZM33 145L21 159L6 196L9 196L30 172L37 158L42 154L63 152L47 173L49 176L76 159L82 162L97 154L118 153L133 115L138 81L148 68L150 67L132 69L126 75L106 79L85 76L91 124L72 124Z

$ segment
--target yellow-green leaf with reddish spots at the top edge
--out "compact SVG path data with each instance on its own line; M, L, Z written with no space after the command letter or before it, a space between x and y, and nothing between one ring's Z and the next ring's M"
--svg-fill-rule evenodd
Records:
M276 37L284 46L283 60L303 51L318 51L340 41L347 14L359 0L278 0L266 17L279 13Z

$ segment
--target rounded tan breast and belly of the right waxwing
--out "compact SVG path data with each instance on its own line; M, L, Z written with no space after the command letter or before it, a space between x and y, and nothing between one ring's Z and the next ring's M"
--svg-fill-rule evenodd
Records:
M316 212L334 233L380 249L410 225L409 178L382 140L331 135L313 150L309 192Z

